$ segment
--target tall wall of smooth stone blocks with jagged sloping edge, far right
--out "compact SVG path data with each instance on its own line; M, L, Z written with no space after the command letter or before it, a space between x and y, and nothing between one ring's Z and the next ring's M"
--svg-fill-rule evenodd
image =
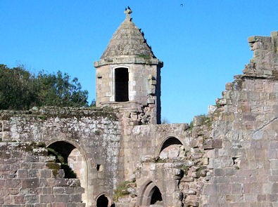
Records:
M253 59L226 84L214 112L213 179L202 206L278 206L278 32L248 38Z

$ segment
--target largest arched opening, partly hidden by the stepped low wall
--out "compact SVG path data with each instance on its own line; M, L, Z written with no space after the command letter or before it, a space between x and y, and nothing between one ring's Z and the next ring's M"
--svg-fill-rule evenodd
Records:
M49 154L56 156L56 162L61 163L65 178L79 178L84 188L82 201L87 203L87 161L77 147L68 141L56 141L47 146Z

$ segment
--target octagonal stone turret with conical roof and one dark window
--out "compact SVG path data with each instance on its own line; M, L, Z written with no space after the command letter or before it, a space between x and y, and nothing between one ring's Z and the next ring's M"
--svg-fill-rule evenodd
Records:
M96 106L113 107L138 124L160 123L159 61L144 33L132 22L130 9L112 39L94 62Z

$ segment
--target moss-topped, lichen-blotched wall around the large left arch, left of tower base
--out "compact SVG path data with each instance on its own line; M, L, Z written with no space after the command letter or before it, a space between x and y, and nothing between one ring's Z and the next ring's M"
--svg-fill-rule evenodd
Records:
M99 194L112 196L123 173L118 115L106 109L41 108L2 111L2 142L70 143L82 154L87 180L86 203L94 206ZM63 147L61 147L63 148Z

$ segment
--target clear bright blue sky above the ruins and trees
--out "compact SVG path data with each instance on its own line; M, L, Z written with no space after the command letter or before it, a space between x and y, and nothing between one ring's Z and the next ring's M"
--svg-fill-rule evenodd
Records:
M277 0L0 0L0 63L77 77L95 98L95 69L132 8L162 69L162 117L206 114L252 58L247 37L278 30Z

